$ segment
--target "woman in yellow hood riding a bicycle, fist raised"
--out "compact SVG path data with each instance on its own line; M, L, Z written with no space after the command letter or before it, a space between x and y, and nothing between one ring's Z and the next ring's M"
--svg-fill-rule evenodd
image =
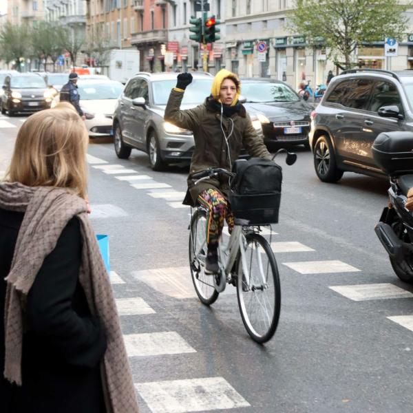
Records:
M178 74L165 109L165 120L193 132L195 149L191 159L188 189L191 203L201 204L209 210L207 222L208 253L205 273L218 273L218 242L228 223L233 229L233 216L229 206L229 178L211 178L195 185L193 173L208 168L231 171L233 162L244 147L251 156L271 159L262 138L257 136L245 107L238 102L241 84L237 76L222 69L213 79L211 96L202 105L180 110L185 88L192 82L190 73ZM187 199L187 198L186 198Z

